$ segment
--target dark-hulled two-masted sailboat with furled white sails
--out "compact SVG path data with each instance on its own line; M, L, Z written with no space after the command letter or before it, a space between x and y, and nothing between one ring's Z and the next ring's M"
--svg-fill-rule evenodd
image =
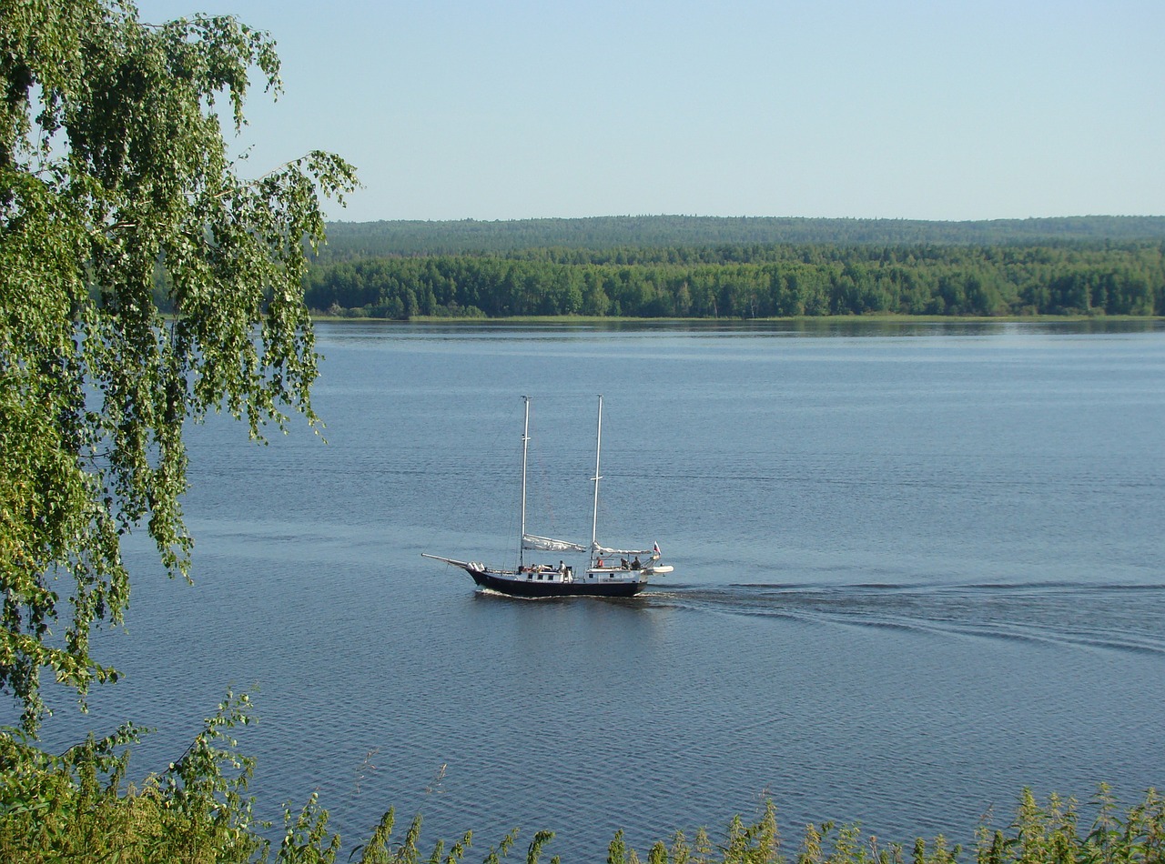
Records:
M649 578L671 573L671 565L659 562L659 544L650 550L608 548L598 541L599 527L599 456L602 451L602 396L599 397L599 422L594 448L594 509L591 519L591 545L541 537L525 530L525 466L530 445L530 397L523 396L525 422L522 427L522 527L516 567L494 567L479 561L459 561L454 558L432 555L424 558L451 564L468 573L478 586L518 597L630 597L642 592ZM582 572L563 561L553 564L529 564L527 552L586 553L587 564ZM640 561L640 555L644 560Z

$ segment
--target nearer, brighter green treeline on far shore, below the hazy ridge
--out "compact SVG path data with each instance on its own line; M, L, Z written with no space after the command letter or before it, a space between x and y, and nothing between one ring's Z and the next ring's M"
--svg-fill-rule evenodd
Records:
M1165 313L1165 243L569 247L317 262L332 314L771 318Z

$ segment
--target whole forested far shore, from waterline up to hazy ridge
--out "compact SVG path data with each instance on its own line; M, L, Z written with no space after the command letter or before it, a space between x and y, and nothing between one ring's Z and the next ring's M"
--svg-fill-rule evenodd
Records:
M351 317L1165 313L1165 217L337 222L308 305Z

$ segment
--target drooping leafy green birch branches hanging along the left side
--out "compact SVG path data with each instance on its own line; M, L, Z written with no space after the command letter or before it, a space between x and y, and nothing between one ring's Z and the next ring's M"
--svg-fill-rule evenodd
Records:
M126 534L186 575L184 423L317 422L302 285L320 194L355 175L316 151L242 176L223 121L256 71L277 94L274 42L234 17L0 0L0 691L28 730L42 672L83 699L115 677L89 636L126 609Z

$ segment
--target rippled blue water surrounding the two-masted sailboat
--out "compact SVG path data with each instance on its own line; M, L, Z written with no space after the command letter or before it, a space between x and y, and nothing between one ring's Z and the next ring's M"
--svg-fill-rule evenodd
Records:
M190 432L195 587L132 546L125 673L45 739L157 728L181 753L257 685L259 809L313 791L347 844L558 833L601 861L809 821L968 842L1022 787L1165 785L1160 324L322 325L316 406L268 447ZM522 395L538 533L658 541L634 601L476 594L506 562Z

